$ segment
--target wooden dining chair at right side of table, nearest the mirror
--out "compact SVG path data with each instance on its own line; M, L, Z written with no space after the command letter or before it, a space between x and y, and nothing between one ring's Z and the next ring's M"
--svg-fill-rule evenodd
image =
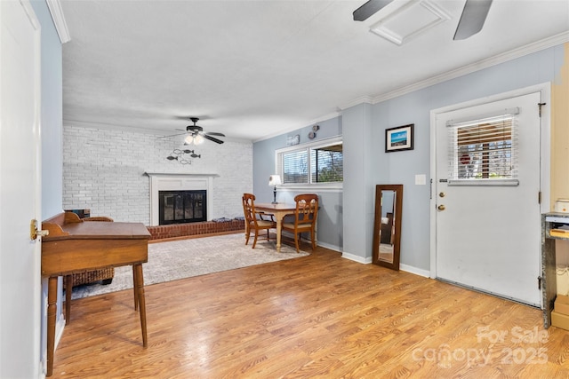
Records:
M294 233L294 244L296 252L299 250L299 238L301 233L310 233L312 249L317 247L316 227L318 216L318 195L316 193L302 193L294 196L296 210L294 212L294 222L284 223L283 230Z

